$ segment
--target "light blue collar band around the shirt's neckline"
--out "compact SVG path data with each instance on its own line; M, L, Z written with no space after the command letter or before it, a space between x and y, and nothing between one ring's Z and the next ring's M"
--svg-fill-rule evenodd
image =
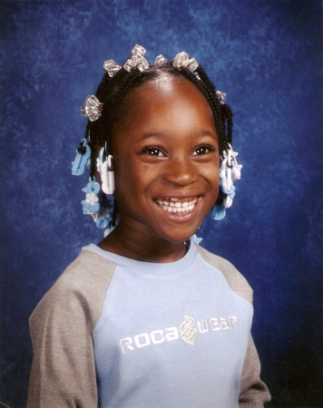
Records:
M127 267L141 273L154 274L154 275L170 275L179 273L181 270L191 266L195 252L196 244L190 241L190 248L187 253L181 259L175 262L169 263L155 263L155 262L143 262L135 260L129 257L122 257L121 255L113 254L113 252L104 251L95 244L90 244L82 248L82 251L93 252L105 259L112 261L114 264L120 267Z

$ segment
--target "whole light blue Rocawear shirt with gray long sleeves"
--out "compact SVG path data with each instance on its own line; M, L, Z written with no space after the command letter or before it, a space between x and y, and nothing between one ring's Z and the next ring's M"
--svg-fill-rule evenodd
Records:
M252 290L191 242L171 263L91 244L30 318L28 407L262 407Z

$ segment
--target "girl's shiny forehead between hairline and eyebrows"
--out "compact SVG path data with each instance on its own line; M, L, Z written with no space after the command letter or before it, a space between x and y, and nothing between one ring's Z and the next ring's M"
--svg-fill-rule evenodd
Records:
M194 128L216 134L209 103L186 79L163 75L133 90L122 104L122 133L139 129L171 133Z

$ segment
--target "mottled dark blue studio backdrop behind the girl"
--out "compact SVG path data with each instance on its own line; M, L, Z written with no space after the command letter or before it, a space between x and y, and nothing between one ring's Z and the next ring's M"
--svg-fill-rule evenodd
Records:
M0 15L2 404L25 405L34 307L103 238L82 213L87 176L71 174L80 106L103 62L142 44L150 63L186 51L227 92L242 179L226 219L204 221L201 245L254 289L269 406L323 406L321 2L3 1Z

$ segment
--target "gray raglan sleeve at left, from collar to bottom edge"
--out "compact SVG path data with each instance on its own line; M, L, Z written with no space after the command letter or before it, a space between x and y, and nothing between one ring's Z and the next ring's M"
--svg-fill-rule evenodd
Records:
M30 317L28 408L97 407L92 332L113 276L107 263L81 253Z

